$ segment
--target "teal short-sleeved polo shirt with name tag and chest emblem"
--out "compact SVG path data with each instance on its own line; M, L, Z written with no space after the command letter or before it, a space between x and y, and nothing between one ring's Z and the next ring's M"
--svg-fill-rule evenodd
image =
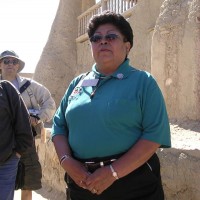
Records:
M68 137L74 156L82 159L125 152L140 139L171 146L162 93L128 59L110 76L94 65L84 79L70 83L53 119L52 137L58 134Z

